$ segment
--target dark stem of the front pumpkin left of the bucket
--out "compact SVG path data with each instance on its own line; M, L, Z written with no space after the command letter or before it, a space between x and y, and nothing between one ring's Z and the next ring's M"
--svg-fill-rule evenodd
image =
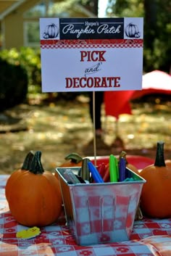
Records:
M43 166L41 164L41 151L36 151L33 160L30 164L30 173L42 174L44 172Z

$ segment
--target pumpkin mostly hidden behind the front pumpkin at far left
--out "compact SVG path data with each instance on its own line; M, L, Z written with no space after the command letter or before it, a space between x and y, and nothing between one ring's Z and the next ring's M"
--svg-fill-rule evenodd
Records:
M5 186L5 196L6 199L8 201L8 197L9 197L9 191L12 189L12 186L14 184L14 181L17 180L17 178L19 178L20 176L22 176L25 172L27 172L30 168L30 163L33 160L33 152L30 151L28 152L28 154L25 157L25 160L22 164L22 168L15 170L8 178L6 186Z

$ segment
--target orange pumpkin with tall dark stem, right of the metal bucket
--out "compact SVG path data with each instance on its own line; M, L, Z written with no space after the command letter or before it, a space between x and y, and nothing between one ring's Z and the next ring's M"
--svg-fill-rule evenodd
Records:
M141 210L151 218L171 217L171 167L164 162L164 142L157 142L154 164L141 170L146 180L141 192Z

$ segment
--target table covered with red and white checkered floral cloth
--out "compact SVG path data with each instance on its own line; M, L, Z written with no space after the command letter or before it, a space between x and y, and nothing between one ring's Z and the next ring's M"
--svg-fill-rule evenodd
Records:
M171 256L171 218L143 218L133 226L130 241L78 246L65 226L64 218L41 228L32 239L17 239L28 227L19 225L9 212L4 188L7 175L0 176L0 256Z

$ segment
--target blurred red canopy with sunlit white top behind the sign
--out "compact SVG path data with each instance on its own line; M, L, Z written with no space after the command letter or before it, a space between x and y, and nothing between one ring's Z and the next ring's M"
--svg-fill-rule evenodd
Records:
M106 115L112 115L117 119L121 114L131 115L130 100L147 94L171 94L171 75L154 70L143 75L141 91L105 91Z

